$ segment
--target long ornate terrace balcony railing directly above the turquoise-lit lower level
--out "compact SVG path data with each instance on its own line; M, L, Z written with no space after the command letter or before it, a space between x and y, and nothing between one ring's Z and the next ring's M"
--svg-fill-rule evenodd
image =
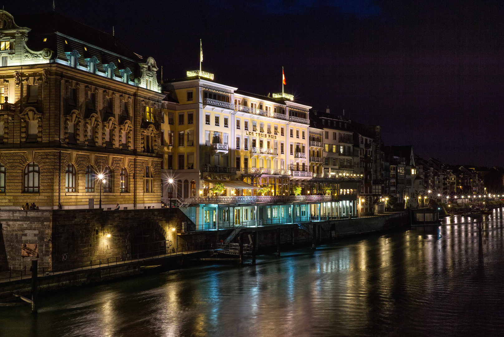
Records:
M192 197L195 204L256 204L256 203L294 203L294 202L322 202L337 200L331 195L257 195L231 197Z

